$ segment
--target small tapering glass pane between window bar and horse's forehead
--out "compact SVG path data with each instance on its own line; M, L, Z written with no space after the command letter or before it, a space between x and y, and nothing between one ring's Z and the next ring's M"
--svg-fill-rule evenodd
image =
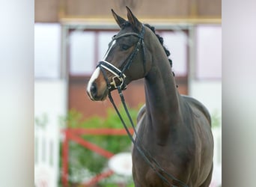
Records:
M99 55L97 61L103 60L104 55L109 49L109 43L112 37L118 34L118 31L100 31L99 32Z

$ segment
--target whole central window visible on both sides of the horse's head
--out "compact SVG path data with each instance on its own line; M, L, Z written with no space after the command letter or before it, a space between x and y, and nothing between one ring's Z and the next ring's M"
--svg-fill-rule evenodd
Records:
M97 62L102 60L112 37L113 30L70 30L70 76L91 76ZM159 31L164 45L171 52L176 76L187 76L188 37L186 31Z

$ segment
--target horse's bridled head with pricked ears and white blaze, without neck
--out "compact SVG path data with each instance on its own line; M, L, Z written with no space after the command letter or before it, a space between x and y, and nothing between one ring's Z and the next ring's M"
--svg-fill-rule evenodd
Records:
M114 10L112 14L121 30L112 37L106 55L88 82L87 93L92 100L104 100L109 91L117 88L124 90L129 82L143 78L150 69L149 49L144 44L150 29L144 27L128 7L128 21Z

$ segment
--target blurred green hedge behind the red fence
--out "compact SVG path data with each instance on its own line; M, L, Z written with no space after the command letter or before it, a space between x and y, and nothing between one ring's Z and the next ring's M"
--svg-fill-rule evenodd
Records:
M129 108L132 120L135 123L137 117L138 108ZM127 122L127 126L130 126L128 117L124 111L124 108L120 107L121 115L124 117L124 121ZM62 119L62 125L68 128L112 128L121 129L124 126L121 120L116 114L114 108L107 110L107 117L90 117L87 120L82 120L82 114L79 111L69 111L67 117ZM121 153L131 151L132 142L127 135L82 135L87 141L103 147L105 150L109 150L112 153ZM61 147L62 149L62 147ZM62 151L62 150L61 150ZM60 161L62 162L62 161ZM69 179L70 183L82 183L85 180L85 175L100 174L104 168L107 167L108 159L103 156L94 153L91 150L82 147L76 142L70 141L69 144ZM62 163L60 163L61 167ZM109 184L111 185L111 184ZM106 185L104 185L106 186Z

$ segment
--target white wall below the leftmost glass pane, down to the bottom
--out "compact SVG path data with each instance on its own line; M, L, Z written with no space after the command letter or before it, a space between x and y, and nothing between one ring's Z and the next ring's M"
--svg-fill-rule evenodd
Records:
M34 82L34 184L58 186L60 117L67 113L67 82Z

